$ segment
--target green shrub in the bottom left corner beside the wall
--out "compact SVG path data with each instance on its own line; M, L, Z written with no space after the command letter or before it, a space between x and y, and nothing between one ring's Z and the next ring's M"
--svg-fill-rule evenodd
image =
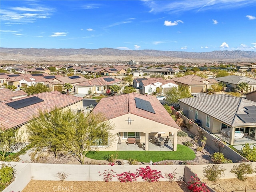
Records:
M15 165L14 165L15 166ZM4 190L15 178L16 170L10 163L1 164L0 169L0 190Z

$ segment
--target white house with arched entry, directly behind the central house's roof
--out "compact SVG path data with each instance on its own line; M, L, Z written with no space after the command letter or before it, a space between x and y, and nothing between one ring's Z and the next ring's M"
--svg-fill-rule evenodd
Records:
M160 88L160 94L164 94L178 85L172 79L164 80L162 78L148 78L139 82L139 89L142 94L152 94L156 92L157 87Z

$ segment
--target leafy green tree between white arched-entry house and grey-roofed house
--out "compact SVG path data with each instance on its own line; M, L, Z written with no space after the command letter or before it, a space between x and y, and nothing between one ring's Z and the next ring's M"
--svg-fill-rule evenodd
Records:
M169 103L179 104L178 99L191 97L187 86L179 85L178 87L171 88L165 93L166 100Z

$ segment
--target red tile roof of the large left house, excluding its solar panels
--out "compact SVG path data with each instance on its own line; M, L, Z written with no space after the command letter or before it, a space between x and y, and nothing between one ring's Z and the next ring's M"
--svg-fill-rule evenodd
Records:
M33 104L24 108L14 109L8 106L6 103L22 100L24 98L29 98L36 96L42 100L43 102ZM39 94L34 94L31 96L15 99L12 101L2 102L0 103L0 122L1 128L10 129L22 126L23 124L28 123L33 119L34 116L38 116L38 109L42 110L50 110L57 106L58 108L65 108L72 104L75 104L84 98L75 97L66 94L60 94L58 91L54 92L43 92Z

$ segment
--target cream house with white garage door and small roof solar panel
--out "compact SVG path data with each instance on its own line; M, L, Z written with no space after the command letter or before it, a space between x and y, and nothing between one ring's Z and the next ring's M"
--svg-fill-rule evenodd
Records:
M79 84L76 84L76 93L88 94L88 90L92 90L92 93L101 94L105 93L109 86L116 85L122 82L121 79L112 78L108 76L94 78Z

